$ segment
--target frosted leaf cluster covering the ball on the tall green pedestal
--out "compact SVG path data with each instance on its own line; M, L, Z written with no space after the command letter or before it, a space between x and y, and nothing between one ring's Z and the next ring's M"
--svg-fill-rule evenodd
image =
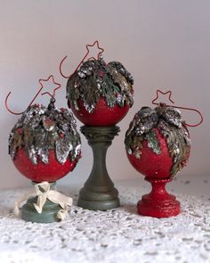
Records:
M82 100L85 110L92 113L102 97L109 108L133 105L133 77L120 62L106 64L102 59L89 60L69 78L67 98L79 110ZM70 107L70 105L69 105Z

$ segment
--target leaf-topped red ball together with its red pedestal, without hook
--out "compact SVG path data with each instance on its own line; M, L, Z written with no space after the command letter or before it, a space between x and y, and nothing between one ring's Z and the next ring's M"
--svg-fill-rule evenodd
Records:
M186 164L190 137L180 112L164 105L138 111L125 135L128 160L152 185L138 202L138 213L168 218L180 213L180 202L166 192L166 183Z

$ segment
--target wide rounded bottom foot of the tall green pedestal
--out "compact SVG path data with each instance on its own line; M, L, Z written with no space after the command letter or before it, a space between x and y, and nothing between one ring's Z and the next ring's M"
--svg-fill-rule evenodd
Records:
M112 210L119 207L118 191L113 188L108 192L93 192L82 188L77 205L87 210Z

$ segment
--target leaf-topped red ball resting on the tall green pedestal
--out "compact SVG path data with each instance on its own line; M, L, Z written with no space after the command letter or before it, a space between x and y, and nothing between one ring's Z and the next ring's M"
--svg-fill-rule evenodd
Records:
M114 126L133 105L133 78L120 62L85 62L67 83L69 108L86 126Z

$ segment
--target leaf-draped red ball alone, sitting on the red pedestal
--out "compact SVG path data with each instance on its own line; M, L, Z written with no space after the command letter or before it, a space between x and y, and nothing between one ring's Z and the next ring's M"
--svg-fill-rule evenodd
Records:
M126 132L125 145L133 166L147 177L174 177L190 155L180 111L165 105L141 108Z

